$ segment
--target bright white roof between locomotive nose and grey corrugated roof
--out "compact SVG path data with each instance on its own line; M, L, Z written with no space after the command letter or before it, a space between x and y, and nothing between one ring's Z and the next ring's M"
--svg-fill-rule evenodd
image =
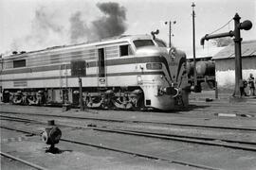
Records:
M196 49L195 51L195 58L196 59L212 58L215 54L217 54L220 50L224 48L225 47L209 47L209 48L200 47L200 49ZM187 59L193 59L192 51L188 52Z

